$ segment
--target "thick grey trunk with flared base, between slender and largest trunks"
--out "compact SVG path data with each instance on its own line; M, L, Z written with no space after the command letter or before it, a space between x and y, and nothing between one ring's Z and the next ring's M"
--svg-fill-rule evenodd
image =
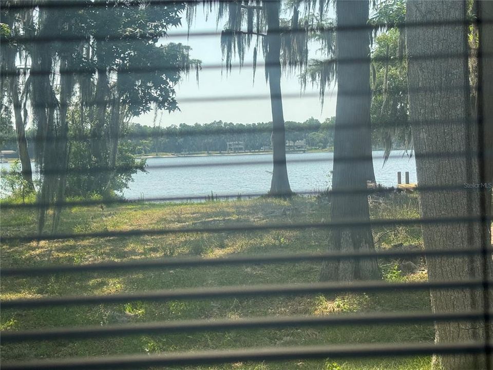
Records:
M371 104L370 34L369 30L357 29L357 26L368 22L368 8L368 0L338 0L336 5L337 25L356 26L356 30L337 32L337 57L344 60L365 60L365 62L340 63L337 66L332 190L334 192L354 190L354 193L332 195L331 220L333 221L370 221L368 197L365 193L369 164L366 140L370 135L365 127L366 124L370 127ZM345 226L331 230L330 251L357 252L374 249L370 225L357 228ZM324 261L320 271L321 281L378 278L380 271L376 258Z

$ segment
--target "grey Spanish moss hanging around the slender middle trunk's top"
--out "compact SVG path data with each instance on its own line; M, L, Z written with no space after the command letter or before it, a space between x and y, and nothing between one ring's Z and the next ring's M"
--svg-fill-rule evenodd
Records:
M207 1L210 6L204 9L213 11L212 1ZM314 0L311 2L288 1L272 2L263 0L257 2L217 2L217 23L224 22L221 32L221 51L225 61L226 72L231 70L232 60L238 57L240 65L243 64L245 53L252 45L252 39L256 36L253 52L253 71L255 78L257 51L263 52L264 58L268 55L269 43L272 42L266 35L269 29L280 28L279 47L280 55L276 59L281 63L282 69L289 73L294 70L301 71L308 64L309 43L312 40L319 41L321 47L332 51L333 35L332 27L326 22L325 14L329 8L329 1ZM287 13L293 15L288 19L281 18ZM193 24L195 20L196 4L187 7L187 23ZM324 28L325 27L325 28ZM246 31L245 31L246 28ZM291 32L295 29L296 32ZM320 31L325 29L324 31ZM259 38L261 36L261 38ZM262 40L262 41L260 41ZM261 43L261 49L260 44ZM270 68L266 68L266 80Z

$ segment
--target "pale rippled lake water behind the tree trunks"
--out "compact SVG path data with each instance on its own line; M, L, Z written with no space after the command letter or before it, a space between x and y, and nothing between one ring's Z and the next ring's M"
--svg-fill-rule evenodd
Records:
M123 192L127 199L182 198L210 195L264 194L272 176L272 154L148 158L147 173L134 175ZM333 153L288 153L288 175L294 192L324 190L330 185ZM385 166L383 152L373 152L378 183L395 186L397 171L416 182L414 157L393 151ZM2 163L2 167L9 167Z

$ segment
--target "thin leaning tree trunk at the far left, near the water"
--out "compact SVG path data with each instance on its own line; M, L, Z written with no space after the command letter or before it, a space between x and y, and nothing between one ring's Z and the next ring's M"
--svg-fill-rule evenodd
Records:
M14 66L15 67L15 66ZM27 149L26 127L22 118L22 103L19 99L18 75L14 71L15 76L10 78L10 94L12 96L12 105L14 108L15 118L15 133L17 136L17 148L19 150L19 159L21 160L22 177L30 189L34 190L32 182L31 158Z

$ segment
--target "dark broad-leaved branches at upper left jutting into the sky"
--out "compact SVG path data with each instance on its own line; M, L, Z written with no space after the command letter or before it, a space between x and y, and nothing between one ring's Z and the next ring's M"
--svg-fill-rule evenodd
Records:
M87 73L89 79L96 67L107 73L110 69L117 71L118 99L129 115L139 116L153 107L172 112L178 109L174 86L192 67L197 72L200 69L200 61L190 58L188 46L158 45L170 28L181 24L180 14L184 10L184 2L169 6L132 6L128 2L118 6L108 3L106 7L89 5L77 15L82 28L78 33L121 35L122 41L111 43L110 48L104 41L98 41L92 45L96 48L96 59L78 55L77 62L91 69ZM128 72L140 69L148 72ZM109 93L109 88L104 89Z

